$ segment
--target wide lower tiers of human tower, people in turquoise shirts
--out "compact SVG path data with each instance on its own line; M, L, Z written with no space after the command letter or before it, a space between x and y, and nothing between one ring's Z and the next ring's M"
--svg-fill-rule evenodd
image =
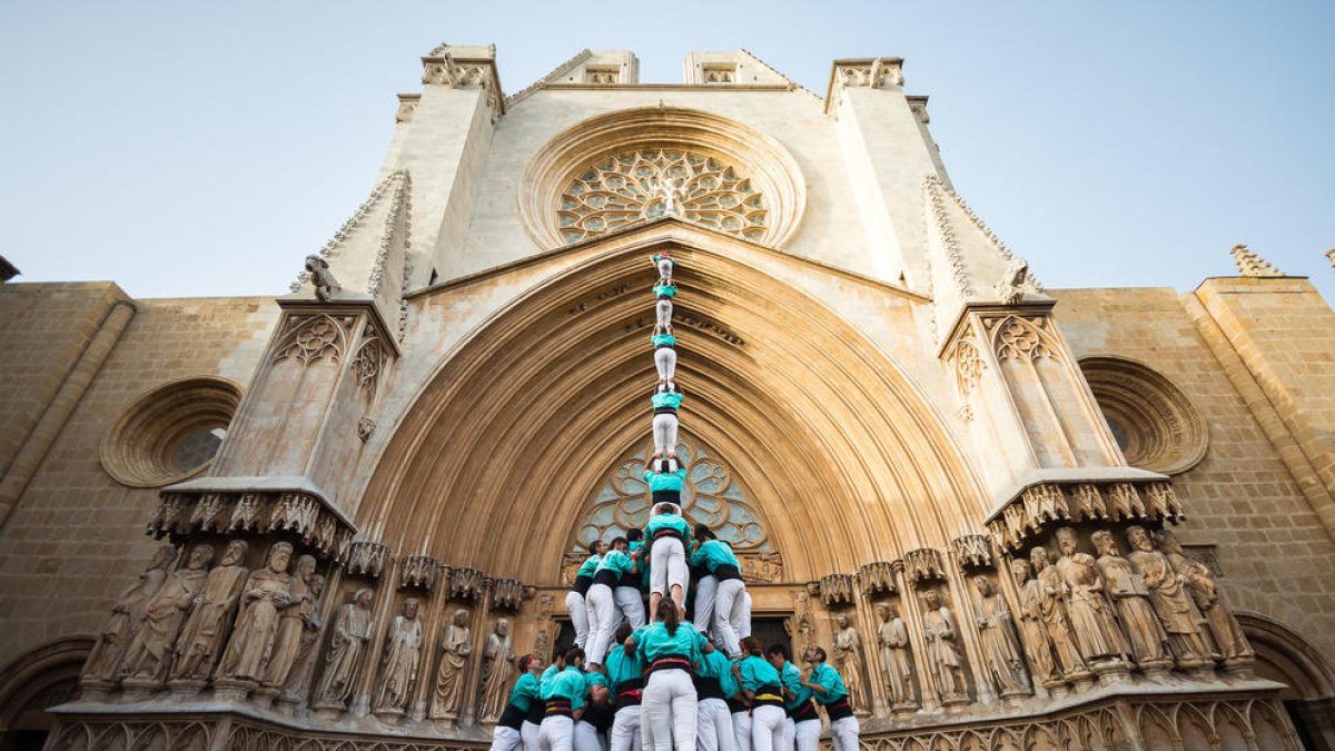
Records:
M705 525L688 547L669 493L654 493L643 531L590 545L566 599L575 647L551 665L519 660L493 751L814 751L817 707L836 751L857 751L857 718L825 649L808 648L801 669L784 644L764 648L737 556Z

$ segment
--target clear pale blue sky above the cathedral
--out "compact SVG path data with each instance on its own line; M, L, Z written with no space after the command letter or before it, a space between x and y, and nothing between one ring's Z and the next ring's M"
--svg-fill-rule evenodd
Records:
M19 281L278 294L366 196L441 41L506 91L583 47L680 82L745 47L824 95L905 57L956 187L1049 287L1195 287L1247 242L1335 301L1335 3L0 4Z

